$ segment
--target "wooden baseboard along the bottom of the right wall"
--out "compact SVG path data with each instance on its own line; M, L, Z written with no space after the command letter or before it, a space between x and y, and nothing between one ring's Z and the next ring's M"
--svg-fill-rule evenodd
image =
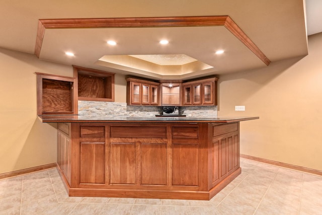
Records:
M263 159L263 158L257 158L257 157L253 157L253 156L249 156L249 155L242 155L242 154L240 154L240 158L245 158L245 159L249 159L249 160L253 160L253 161L258 161L258 162L262 162L262 163L266 163L266 164L271 164L271 165L275 165L275 166L279 166L279 167L285 167L285 168L292 169L292 170L297 170L297 171L301 171L301 172L306 172L306 173L322 176L322 171L314 170L314 169L310 169L310 168L306 168L306 167L295 166L292 164L285 164L285 163L281 163L278 161L271 161L271 160L267 160L267 159Z

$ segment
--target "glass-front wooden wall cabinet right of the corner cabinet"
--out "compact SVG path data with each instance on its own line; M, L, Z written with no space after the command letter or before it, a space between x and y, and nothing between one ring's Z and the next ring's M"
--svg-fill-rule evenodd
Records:
M186 82L183 88L183 105L217 105L217 78Z

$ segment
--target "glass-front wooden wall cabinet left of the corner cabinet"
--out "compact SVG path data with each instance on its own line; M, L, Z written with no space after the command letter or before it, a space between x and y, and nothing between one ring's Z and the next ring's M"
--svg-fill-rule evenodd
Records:
M128 105L159 105L159 83L127 78Z

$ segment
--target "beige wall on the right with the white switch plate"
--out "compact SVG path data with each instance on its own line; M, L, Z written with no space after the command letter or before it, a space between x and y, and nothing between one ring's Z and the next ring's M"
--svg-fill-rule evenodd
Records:
M322 171L321 47L315 34L303 58L219 78L218 117L260 117L240 122L241 154Z

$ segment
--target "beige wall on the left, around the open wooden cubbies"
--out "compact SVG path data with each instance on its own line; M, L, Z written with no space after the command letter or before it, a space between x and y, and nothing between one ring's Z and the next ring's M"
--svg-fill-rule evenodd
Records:
M0 174L56 163L56 123L37 117L36 75L73 76L72 66L0 48ZM126 81L115 76L116 102L126 102Z

